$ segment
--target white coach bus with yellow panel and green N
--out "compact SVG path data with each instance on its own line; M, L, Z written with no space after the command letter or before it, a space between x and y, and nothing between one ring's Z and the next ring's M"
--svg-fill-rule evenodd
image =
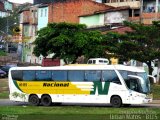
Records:
M110 103L113 107L152 101L144 70L123 65L14 67L9 71L10 100L52 103Z

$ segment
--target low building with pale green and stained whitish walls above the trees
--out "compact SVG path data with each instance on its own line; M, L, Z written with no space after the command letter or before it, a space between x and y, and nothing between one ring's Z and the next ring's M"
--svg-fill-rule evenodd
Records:
M129 7L117 7L108 10L96 11L94 14L79 16L80 23L87 27L99 27L107 25L121 25L129 18Z

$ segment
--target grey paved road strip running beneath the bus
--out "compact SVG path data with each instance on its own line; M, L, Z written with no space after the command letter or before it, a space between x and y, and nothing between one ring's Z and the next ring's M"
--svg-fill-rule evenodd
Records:
M27 106L29 105L28 103L24 102L14 102L10 101L8 99L0 99L0 106ZM93 107L111 107L110 104L74 104L74 103L64 103L62 106L68 106L68 105L78 105L78 106L93 106ZM160 108L160 104L157 103L152 103L152 104L143 104L143 105L132 105L130 106L132 108Z

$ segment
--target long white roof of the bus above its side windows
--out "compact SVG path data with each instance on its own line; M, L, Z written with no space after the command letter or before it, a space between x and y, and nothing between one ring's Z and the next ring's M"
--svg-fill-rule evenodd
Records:
M66 66L54 66L54 67L12 67L10 70L127 70L132 72L145 72L142 69L133 66L125 65L93 65L93 64L71 64Z

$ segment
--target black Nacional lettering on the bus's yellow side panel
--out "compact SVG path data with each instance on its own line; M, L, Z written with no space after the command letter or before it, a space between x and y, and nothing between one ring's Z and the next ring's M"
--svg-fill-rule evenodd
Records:
M69 83L43 83L43 87L69 87Z

